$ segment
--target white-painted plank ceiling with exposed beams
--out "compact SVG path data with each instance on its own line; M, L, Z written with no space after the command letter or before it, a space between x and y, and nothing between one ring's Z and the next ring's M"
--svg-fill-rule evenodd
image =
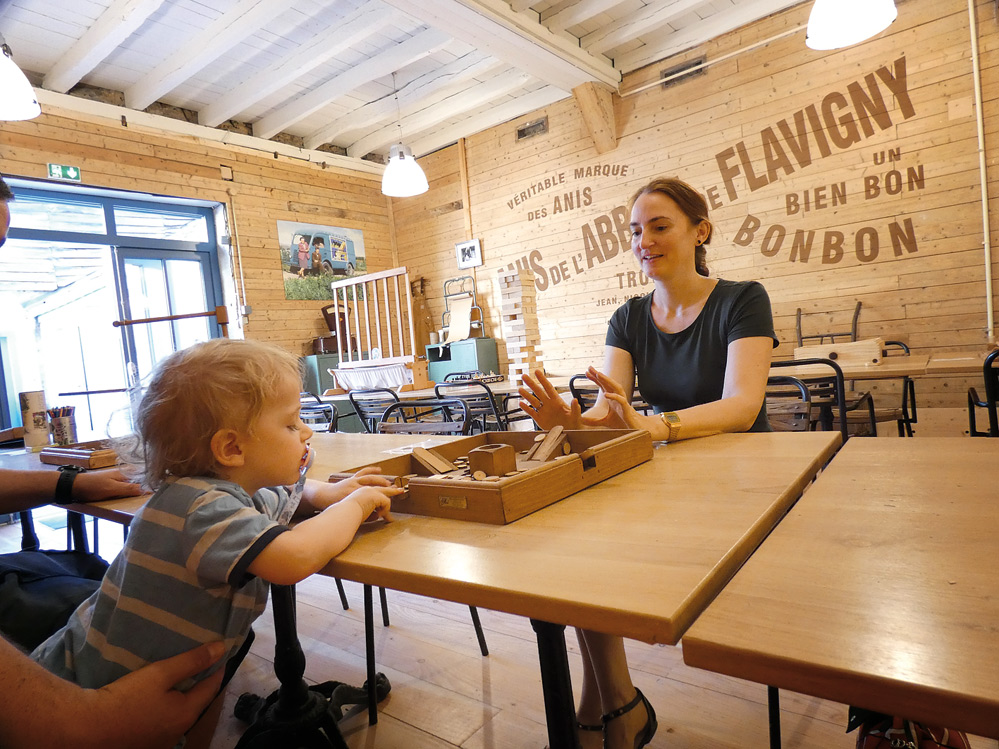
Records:
M0 34L49 91L420 156L799 2L0 0Z

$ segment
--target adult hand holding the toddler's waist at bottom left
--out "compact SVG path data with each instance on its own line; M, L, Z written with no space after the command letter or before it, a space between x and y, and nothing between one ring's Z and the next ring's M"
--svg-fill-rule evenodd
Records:
M169 749L201 715L222 684L224 669L195 684L188 692L174 685L216 663L225 654L221 642L210 642L173 658L151 663L96 690L83 690L80 726L87 736L74 746L163 747ZM63 710L60 705L59 710ZM83 731L81 731L83 733Z

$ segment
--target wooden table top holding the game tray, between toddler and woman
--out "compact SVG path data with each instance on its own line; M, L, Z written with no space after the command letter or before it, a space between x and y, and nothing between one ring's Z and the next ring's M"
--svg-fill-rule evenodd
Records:
M373 523L324 572L676 643L838 444L838 432L811 432L659 446L651 461L508 525Z

